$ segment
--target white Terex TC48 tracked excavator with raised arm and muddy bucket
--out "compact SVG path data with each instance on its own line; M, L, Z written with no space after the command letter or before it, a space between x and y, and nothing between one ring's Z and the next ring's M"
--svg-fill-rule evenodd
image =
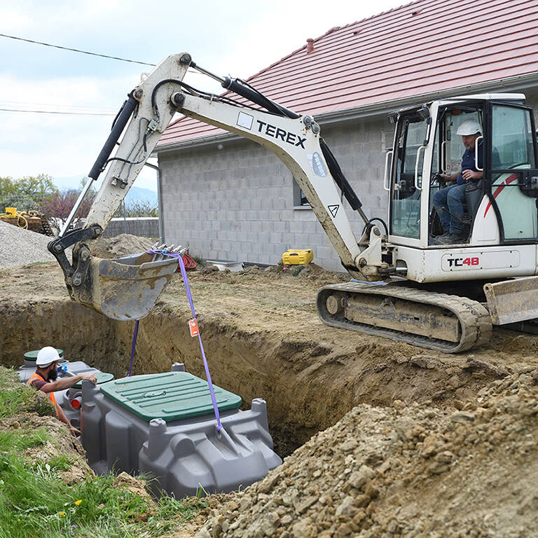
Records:
M216 79L228 92L196 90L183 82L187 69ZM92 256L92 248L179 112L254 140L287 165L352 276L349 283L319 290L323 322L443 352L469 350L488 341L494 324L521 328L538 318L537 141L524 99L469 95L393 113L394 147L383 181L389 197L385 223L364 214L312 116L289 111L244 81L202 69L187 53L172 55L128 95L88 174L92 181L48 249L74 301L112 319L149 313L177 258L142 253L105 260ZM483 179L469 181L466 189L467 209L458 217L465 238L443 244L432 241L443 231L432 198L446 174L459 170L462 145L456 132L469 120L481 125L482 142L477 142L483 158L477 158L476 170ZM106 168L83 228L68 230L88 188ZM357 236L343 198L364 221ZM71 245L69 262L65 249Z

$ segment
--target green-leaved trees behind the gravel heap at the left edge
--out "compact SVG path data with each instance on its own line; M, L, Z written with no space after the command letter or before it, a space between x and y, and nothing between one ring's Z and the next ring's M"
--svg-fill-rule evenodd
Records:
M38 209L43 198L57 191L53 179L47 174L19 179L0 177L0 212L5 207L17 207L23 211Z

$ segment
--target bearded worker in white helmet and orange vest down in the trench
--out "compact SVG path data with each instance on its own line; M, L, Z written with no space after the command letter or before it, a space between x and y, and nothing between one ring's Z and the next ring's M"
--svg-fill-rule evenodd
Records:
M59 361L60 355L54 347L51 347L50 345L42 347L37 353L36 371L27 381L27 385L32 385L32 387L47 394L48 398L53 403L53 406L56 408L58 418L69 427L69 432L76 437L81 432L71 425L71 422L69 422L65 416L64 410L56 403L54 393L59 390L69 389L81 380L91 381L96 385L97 375L95 375L95 373L79 373L69 378L57 379Z

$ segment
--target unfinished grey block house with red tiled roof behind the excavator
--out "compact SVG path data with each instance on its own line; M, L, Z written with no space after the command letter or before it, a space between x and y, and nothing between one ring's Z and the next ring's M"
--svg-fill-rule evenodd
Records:
M322 127L369 217L386 218L391 111L440 97L524 92L538 109L535 0L418 0L331 28L249 84ZM291 172L247 139L182 117L156 147L163 230L191 253L276 263L289 248L340 260ZM345 203L357 236L362 221Z

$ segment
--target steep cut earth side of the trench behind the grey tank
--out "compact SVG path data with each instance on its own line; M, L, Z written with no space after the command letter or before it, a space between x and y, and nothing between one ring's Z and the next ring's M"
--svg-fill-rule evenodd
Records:
M506 375L500 356L513 355L506 338L494 343L496 354L439 355L324 326L310 333L240 329L231 314L198 318L213 381L239 394L245 407L255 397L268 402L270 433L282 457L358 403L432 400L443 406L471 398ZM205 378L198 339L186 330L189 317L165 302L140 322L135 374L169 371L179 361ZM111 322L60 298L9 301L0 305L0 318L1 364L18 367L25 352L52 344L70 361L83 360L116 378L127 373L132 322ZM534 354L534 340L519 345Z

